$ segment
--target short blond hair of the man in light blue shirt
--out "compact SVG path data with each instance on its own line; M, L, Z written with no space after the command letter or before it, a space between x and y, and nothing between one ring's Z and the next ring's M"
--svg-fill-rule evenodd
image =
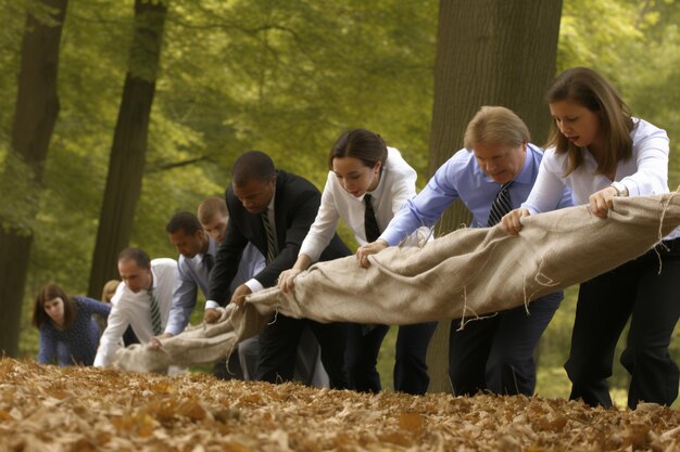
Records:
M530 141L529 128L519 116L504 106L482 106L465 129L463 143L471 151L477 144L511 144Z

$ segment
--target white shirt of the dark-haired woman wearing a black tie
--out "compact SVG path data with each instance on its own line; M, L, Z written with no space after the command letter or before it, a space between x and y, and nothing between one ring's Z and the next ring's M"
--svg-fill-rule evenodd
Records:
M388 157L382 168L380 182L373 192L372 205L380 231L383 231L402 205L416 195L416 171L403 159L394 147L388 147ZM366 245L364 225L364 196L348 193L333 171L328 172L322 193L322 205L310 232L302 242L300 254L317 261L332 240L340 218L352 229L360 245Z

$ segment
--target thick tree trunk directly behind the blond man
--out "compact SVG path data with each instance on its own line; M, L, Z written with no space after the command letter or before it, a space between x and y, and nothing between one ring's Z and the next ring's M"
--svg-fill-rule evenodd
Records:
M467 122L482 105L513 109L542 144L550 126L543 91L555 72L562 0L441 0L439 8L430 175L462 147ZM439 231L469 218L456 202ZM428 350L430 391L451 388L450 322L442 323Z

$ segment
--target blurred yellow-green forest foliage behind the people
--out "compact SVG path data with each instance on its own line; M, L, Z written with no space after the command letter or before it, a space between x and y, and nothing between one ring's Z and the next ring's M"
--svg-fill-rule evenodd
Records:
M0 277L3 315L16 309L5 294L23 286L18 352L2 339L2 348L12 354L35 356L37 331L28 317L40 285L55 281L72 293L86 293L92 269L112 264L110 256L93 258L102 221L131 222L130 245L152 257L176 257L164 232L166 221L176 210L194 210L205 196L222 195L231 163L245 150L265 151L280 168L322 188L333 140L348 128L365 127L402 151L418 170L420 185L427 181L438 1L138 0L167 11L143 166L134 164L143 171L140 194L136 209L117 214L128 218L100 216L136 46L135 1L70 0L65 20L50 9L52 3L59 2L0 2L1 172L8 173L17 151L12 131L27 14L39 21L37 27L63 26L61 109L41 178L29 188L30 173L10 170L14 179L0 191L3 233L23 224L33 235L25 284L17 276ZM668 131L671 188L680 182L678 7L677 0L564 0L555 61L556 70L575 65L600 70L635 115ZM550 39L545 24L527 26ZM458 44L467 46L464 40ZM514 73L508 79L508 72L512 66L503 64L478 77L519 87L522 80L514 80ZM450 152L461 146L462 137L454 134L456 145ZM350 234L343 236L352 245ZM5 258L10 264L20 260L7 246L0 248L0 258L11 255ZM541 395L565 396L568 390L562 364L574 317L574 290L569 293L541 343ZM679 347L673 344L676 357ZM388 388L392 354L386 341L381 364ZM620 367L613 384L626 386Z

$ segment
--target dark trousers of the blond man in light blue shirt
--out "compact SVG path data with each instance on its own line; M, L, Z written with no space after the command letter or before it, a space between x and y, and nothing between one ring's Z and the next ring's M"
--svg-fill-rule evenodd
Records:
M453 392L471 396L490 390L499 395L533 395L533 352L563 298L563 292L549 294L529 304L529 314L520 306L467 321L461 331L461 320L452 321L449 376Z

